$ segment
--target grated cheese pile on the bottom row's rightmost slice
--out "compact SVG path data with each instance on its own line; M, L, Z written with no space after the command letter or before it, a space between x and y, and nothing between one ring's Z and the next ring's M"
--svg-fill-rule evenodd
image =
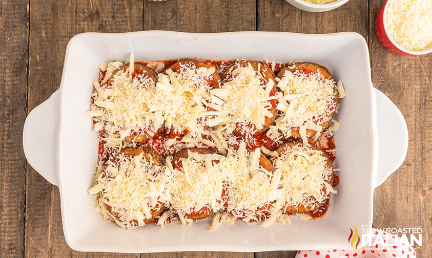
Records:
M328 199L328 193L336 193L327 183L333 175L333 167L327 165L327 158L320 150L299 145L286 148L274 158L273 166L275 173L280 171L280 185L284 188L287 206L315 205Z

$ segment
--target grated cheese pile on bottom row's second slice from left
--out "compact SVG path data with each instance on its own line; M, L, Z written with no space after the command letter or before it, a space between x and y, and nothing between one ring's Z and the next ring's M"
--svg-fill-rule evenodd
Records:
M188 158L180 158L180 169L169 169L171 175L167 184L167 191L172 200L169 206L179 216L198 212L207 207L213 212L223 208L219 202L222 196L224 173L218 164L218 154L198 154L188 150ZM175 165L175 164L174 164ZM172 167L171 164L168 167ZM175 166L174 166L175 167Z

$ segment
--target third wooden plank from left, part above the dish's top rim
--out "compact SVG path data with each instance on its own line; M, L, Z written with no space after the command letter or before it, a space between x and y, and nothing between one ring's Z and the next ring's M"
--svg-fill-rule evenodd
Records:
M255 0L144 1L144 30L254 31Z

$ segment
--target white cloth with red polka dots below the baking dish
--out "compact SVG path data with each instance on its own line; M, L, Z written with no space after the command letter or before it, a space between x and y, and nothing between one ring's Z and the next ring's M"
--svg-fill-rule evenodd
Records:
M375 234L381 234L381 238L385 239L386 232L375 230ZM391 235L392 238L399 238L397 235ZM400 239L400 238L399 238ZM374 243L375 239L372 239ZM364 249L350 250L300 250L297 252L296 258L415 258L416 250L406 244L401 244L393 247L383 247L375 245L375 248L365 247Z

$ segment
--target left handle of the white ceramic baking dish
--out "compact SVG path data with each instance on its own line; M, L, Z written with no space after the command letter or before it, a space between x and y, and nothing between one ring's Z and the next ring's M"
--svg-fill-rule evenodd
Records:
M58 125L58 90L36 106L24 123L23 146L29 164L48 182L57 185L55 149Z

